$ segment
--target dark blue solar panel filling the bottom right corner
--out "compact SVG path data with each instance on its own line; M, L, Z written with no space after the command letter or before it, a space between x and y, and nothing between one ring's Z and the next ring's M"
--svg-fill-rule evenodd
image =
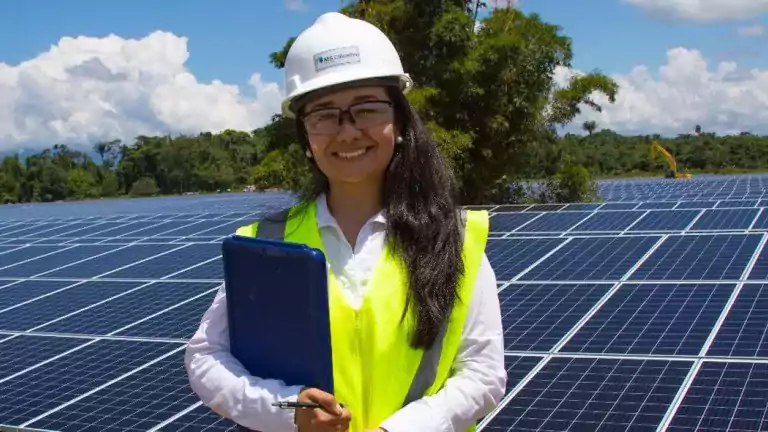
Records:
M766 388L766 363L705 361L667 430L768 430Z

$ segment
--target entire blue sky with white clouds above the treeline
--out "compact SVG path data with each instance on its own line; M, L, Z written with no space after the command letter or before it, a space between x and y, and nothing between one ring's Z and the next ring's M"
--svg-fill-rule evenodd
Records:
M573 40L559 83L619 84L586 120L626 134L768 134L768 0L487 0ZM497 4L498 3L498 4ZM279 111L269 54L339 0L0 2L0 152L252 130Z

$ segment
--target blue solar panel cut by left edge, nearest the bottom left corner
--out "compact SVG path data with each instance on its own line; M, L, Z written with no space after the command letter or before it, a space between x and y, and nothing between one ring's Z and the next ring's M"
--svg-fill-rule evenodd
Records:
M0 421L20 425L183 345L99 340L0 382Z

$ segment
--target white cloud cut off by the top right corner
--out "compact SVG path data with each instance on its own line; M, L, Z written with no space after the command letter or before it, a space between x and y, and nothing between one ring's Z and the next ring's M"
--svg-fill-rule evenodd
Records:
M768 13L768 0L623 0L666 19L697 22L754 18Z

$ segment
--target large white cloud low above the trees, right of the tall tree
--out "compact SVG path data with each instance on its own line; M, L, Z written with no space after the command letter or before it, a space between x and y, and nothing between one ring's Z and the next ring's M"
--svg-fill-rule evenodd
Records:
M575 73L581 72L560 70L556 79L563 83ZM710 67L699 51L679 47L667 52L657 74L637 66L613 79L620 86L616 103L598 94L603 112L583 109L570 129L595 120L601 129L623 133L676 135L697 124L720 134L768 133L768 69L747 70L734 62Z

